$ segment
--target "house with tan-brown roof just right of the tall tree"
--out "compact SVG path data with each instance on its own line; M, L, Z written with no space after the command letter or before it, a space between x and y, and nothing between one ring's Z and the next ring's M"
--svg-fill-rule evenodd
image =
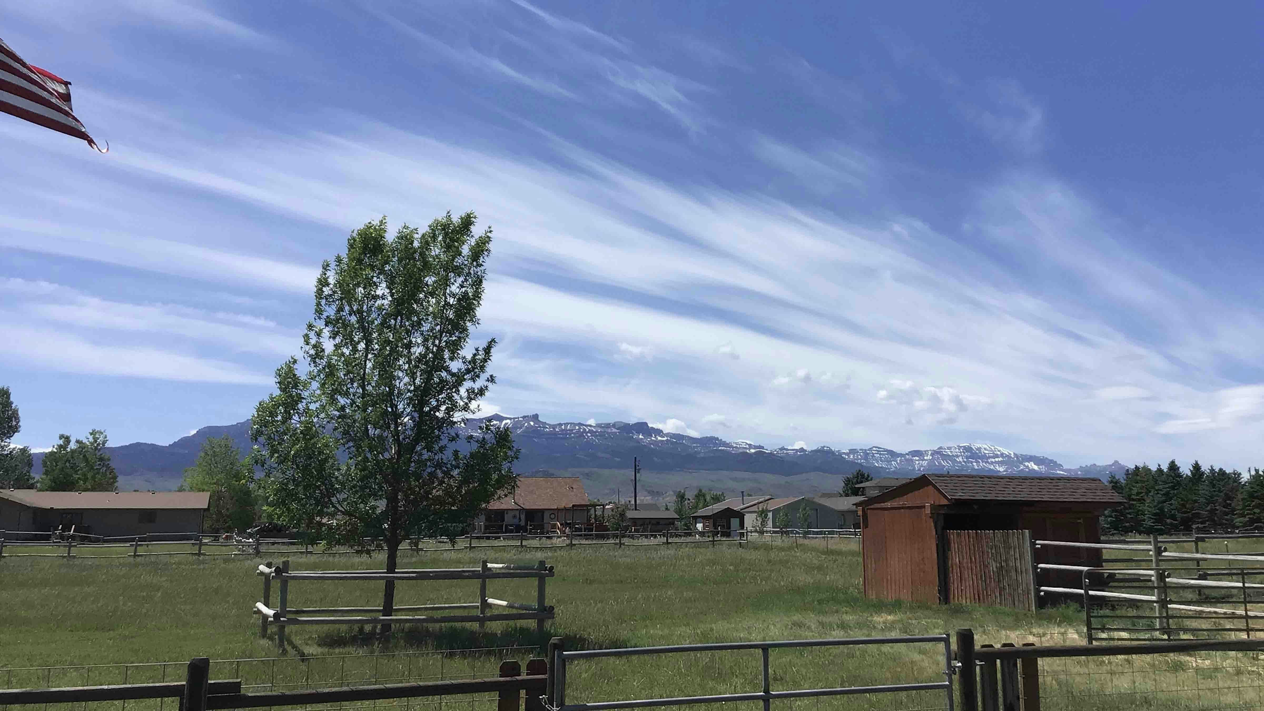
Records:
M592 520L579 477L518 477L513 493L493 501L474 517L474 533L542 534Z

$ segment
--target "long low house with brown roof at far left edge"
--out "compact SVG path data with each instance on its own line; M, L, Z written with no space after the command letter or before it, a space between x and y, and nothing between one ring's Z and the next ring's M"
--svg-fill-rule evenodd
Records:
M100 536L202 533L211 495L197 491L0 490L0 531Z

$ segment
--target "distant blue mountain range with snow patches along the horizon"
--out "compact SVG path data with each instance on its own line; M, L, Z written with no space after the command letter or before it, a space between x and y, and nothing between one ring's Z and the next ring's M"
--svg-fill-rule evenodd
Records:
M782 479L795 478L804 483L793 488L804 488L806 492L828 486L856 469L865 469L873 477L954 472L1105 478L1111 473L1122 473L1125 468L1124 464L1112 462L1072 469L1048 457L1016 454L990 444L956 444L911 452L881 447L770 449L746 440L728 442L718 436L669 433L647 423L546 423L538 415L470 419L464 430L475 431L485 421L509 428L513 433L514 443L522 452L514 469L523 474L565 472L583 476L589 472L595 477L595 472L629 471L632 458L636 457L645 472L695 472L694 478L699 482L696 486L726 488L724 482L736 482L728 488L743 485L784 488L790 482ZM120 490L172 490L179 485L185 468L197 459L204 442L228 435L246 452L252 445L249 433L250 420L244 420L234 425L205 426L167 445L137 442L110 447L106 452L119 473ZM39 474L43 454L37 453L34 459L35 473ZM685 483L689 479L688 476L670 478ZM605 496L603 492L607 487L597 481L593 483L598 486L598 491L589 493ZM612 491L611 495L613 493Z

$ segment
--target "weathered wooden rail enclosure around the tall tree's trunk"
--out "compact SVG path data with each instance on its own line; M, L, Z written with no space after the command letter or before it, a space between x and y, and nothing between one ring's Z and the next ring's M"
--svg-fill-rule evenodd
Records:
M277 649L286 650L286 628L289 625L377 625L377 624L417 624L437 625L445 622L487 622L511 620L535 620L536 631L544 633L545 622L554 619L554 607L545 602L545 582L554 577L554 567L540 560L535 566L512 563L488 563L483 560L478 568L410 568L393 573L386 571L310 571L291 572L289 560L273 566L272 560L262 564L257 574L263 578L263 600L254 605L259 615L259 636L267 636L268 625L277 626ZM487 596L487 583L493 579L536 578L536 603L509 602ZM272 581L277 581L277 607L272 607ZM397 605L394 612L422 612L442 610L478 610L474 615L380 615L382 607L291 607L291 581L479 581L478 602L450 602L440 605ZM506 607L518 612L488 612L490 607ZM379 612L375 616L364 612ZM307 616L325 615L325 616Z

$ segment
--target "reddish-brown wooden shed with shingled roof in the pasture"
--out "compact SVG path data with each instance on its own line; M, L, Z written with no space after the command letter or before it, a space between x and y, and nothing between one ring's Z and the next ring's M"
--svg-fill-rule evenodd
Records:
M1101 550L1040 548L1033 559L1028 541L1101 543L1101 515L1119 504L1096 478L920 476L856 505L865 595L1034 609L1034 564L1100 567ZM1074 572L1043 579L1079 587Z

